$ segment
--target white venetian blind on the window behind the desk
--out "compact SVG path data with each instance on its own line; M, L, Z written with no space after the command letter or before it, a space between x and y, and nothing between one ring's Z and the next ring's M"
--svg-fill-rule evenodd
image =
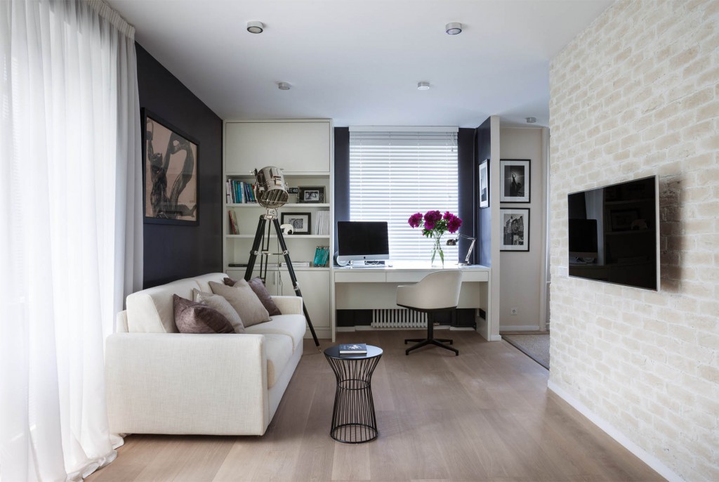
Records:
M431 240L407 221L435 209L459 215L457 128L393 129L349 128L349 219L387 221L393 260L429 260ZM457 263L457 247L445 246L444 260Z

